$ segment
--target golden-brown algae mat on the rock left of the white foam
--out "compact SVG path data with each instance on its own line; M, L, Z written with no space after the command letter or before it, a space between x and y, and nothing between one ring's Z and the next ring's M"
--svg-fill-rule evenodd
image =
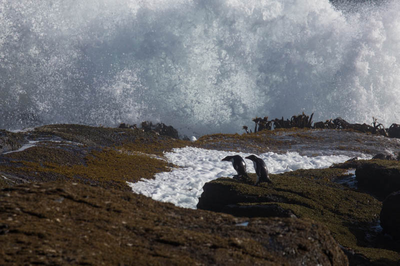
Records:
M82 158L84 164L79 164L79 160L71 164L65 160L71 154L59 149L52 149L54 156L45 160L43 158L46 155L52 154L48 148L32 147L25 151L23 155L18 153L12 155L15 159L25 160L11 161L11 166L0 165L0 171L30 176L32 181L70 180L128 191L130 188L126 185L126 181L136 182L141 178L153 178L155 173L170 171L169 167L172 166L164 160L146 155L127 154L110 148L92 150Z

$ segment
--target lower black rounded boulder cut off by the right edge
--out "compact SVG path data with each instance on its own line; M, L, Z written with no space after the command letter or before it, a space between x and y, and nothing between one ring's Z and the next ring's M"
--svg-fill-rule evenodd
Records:
M385 233L400 239L400 191L391 193L383 201L380 226Z

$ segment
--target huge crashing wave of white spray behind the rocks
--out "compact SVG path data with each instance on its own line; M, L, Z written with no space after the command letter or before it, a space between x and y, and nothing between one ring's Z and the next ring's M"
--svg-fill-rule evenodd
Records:
M400 121L397 0L2 0L0 128Z

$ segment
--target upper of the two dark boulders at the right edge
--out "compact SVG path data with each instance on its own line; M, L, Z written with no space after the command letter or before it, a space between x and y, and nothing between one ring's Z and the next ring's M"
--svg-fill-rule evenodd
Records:
M400 162L392 160L364 161L355 169L358 187L384 198L400 190Z

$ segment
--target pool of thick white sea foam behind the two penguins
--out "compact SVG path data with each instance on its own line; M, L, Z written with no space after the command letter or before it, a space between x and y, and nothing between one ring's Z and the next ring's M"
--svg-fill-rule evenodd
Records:
M206 150L193 147L177 148L164 156L179 168L171 172L155 175L155 179L142 179L136 183L128 183L132 191L151 197L154 200L170 202L184 208L196 208L204 183L218 177L236 174L230 162L222 162L227 155L237 154L241 157L249 153L232 153L226 151ZM350 157L344 155L300 156L296 152L276 154L267 152L257 155L263 159L269 173L277 174L297 169L325 168L333 163L344 162ZM366 156L365 156L366 158ZM244 159L247 172L255 173L250 160Z

